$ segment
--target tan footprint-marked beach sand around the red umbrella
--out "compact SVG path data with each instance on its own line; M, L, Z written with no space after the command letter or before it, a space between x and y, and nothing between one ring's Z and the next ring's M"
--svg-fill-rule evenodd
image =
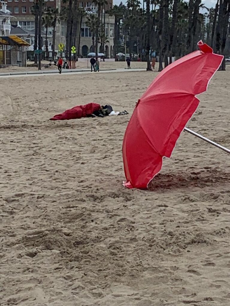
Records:
M182 132L149 191L122 186L125 128L156 75L1 79L1 306L229 306L229 155ZM217 72L187 125L228 148L229 86ZM130 114L48 120L88 102Z

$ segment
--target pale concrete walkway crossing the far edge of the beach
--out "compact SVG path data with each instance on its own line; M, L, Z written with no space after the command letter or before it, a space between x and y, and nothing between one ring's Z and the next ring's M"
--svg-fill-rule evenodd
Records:
M134 72L134 71L146 71L144 68L118 68L118 69L102 69L99 73L109 73L109 72ZM94 73L90 69L63 69L62 74L72 75L72 74L87 74ZM11 78L11 77L26 77L26 76L45 76L45 75L59 75L58 70L41 70L41 71L19 71L19 72L6 72L0 73L0 78Z

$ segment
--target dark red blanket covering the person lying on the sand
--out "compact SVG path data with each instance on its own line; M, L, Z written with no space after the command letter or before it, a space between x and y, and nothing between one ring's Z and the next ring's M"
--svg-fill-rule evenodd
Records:
M50 120L69 120L69 119L79 119L90 116L93 112L101 108L100 104L88 103L86 105L78 105L70 110L64 111L62 114L55 115Z

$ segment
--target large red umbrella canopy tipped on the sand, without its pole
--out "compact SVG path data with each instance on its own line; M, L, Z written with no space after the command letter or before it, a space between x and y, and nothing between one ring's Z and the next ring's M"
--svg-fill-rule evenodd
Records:
M123 140L126 187L147 188L195 112L195 95L206 91L219 68L223 56L202 41L198 46L163 69L138 100Z

